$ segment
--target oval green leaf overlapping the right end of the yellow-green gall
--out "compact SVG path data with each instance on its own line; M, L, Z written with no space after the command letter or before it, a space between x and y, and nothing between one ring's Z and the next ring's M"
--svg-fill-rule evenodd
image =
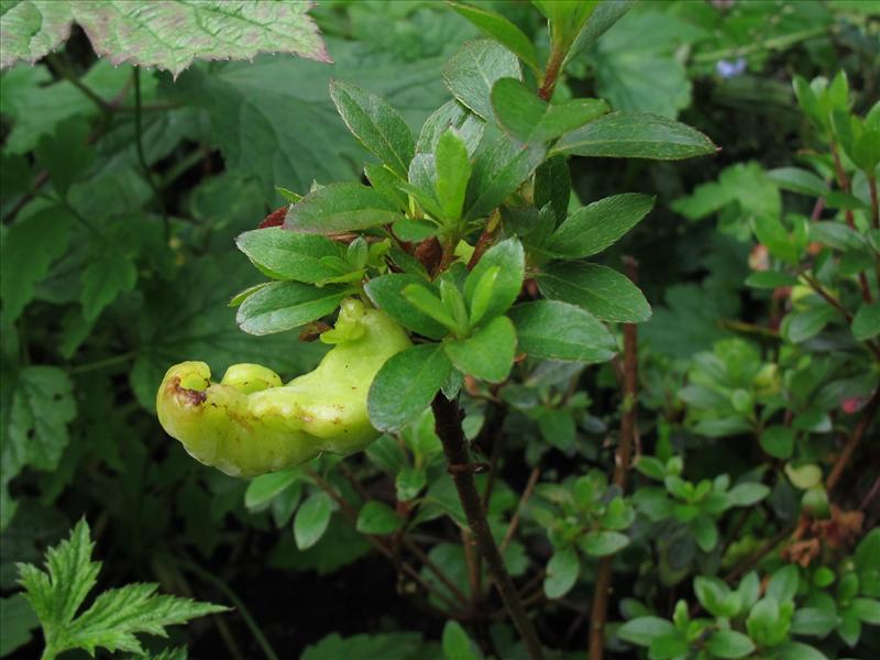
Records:
M397 353L376 374L367 409L373 426L396 431L421 414L449 378L452 363L439 344L416 345Z

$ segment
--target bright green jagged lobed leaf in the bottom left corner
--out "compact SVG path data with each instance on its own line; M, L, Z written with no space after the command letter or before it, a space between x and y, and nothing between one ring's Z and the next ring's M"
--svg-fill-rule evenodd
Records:
M165 627L226 607L188 598L156 595L156 584L129 584L101 593L80 616L76 616L97 582L101 564L91 561L95 544L85 520L67 540L46 553L47 571L33 564L18 564L19 583L31 603L45 637L45 657L97 647L109 651L143 653L135 634L166 636Z

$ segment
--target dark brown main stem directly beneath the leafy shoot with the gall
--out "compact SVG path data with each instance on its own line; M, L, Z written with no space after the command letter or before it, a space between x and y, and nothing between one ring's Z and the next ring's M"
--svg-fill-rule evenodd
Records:
M541 660L543 651L535 631L535 626L529 619L522 602L519 600L519 594L517 594L510 575L504 565L504 559L502 559L498 547L495 544L495 539L486 520L486 513L480 501L480 493L474 483L473 472L466 469L470 465L470 458L464 432L461 428L461 410L458 404L447 399L442 393L435 397L431 407L433 408L437 424L437 435L443 443L447 463L450 468L457 468L451 470L452 481L459 492L459 499L468 518L468 525L476 539L483 559L486 561L488 573L495 582L495 587L498 590L507 613L522 637L522 642L529 657L532 660Z

